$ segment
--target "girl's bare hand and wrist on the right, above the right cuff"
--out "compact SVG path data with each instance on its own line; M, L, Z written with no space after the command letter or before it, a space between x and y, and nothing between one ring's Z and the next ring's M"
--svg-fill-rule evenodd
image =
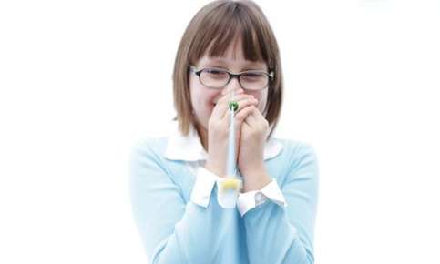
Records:
M243 191L261 189L271 182L264 166L264 146L269 135L269 122L257 107L248 107L240 127L238 167L244 178Z

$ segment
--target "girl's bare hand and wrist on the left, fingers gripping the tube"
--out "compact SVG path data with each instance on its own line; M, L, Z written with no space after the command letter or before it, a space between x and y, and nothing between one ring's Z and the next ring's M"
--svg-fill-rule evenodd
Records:
M228 140L230 130L230 92L223 91L223 96L217 102L212 110L210 120L208 121L208 158L205 168L212 173L225 177L226 165L228 159ZM258 101L254 96L243 94L242 90L236 93L234 99L239 104L235 120L235 160L238 157L240 147L240 126L244 118L248 116L250 107L255 107Z

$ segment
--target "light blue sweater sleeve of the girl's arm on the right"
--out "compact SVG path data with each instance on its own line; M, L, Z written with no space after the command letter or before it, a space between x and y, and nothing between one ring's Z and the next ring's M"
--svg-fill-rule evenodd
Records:
M312 147L302 145L298 155L281 187L288 206L267 199L244 214L251 263L314 262L318 164Z

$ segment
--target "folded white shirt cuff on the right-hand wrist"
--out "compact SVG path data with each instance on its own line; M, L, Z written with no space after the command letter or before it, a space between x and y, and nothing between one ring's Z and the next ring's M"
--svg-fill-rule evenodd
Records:
M252 208L256 208L270 199L272 202L278 204L281 207L287 207L287 202L282 195L281 189L278 187L276 179L272 179L271 182L261 190L252 190L245 193L240 193L237 199L237 208L239 209L241 217L246 214Z

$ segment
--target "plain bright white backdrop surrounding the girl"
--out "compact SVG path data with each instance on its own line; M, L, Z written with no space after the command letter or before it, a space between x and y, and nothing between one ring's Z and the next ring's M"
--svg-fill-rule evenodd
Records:
M208 2L0 2L0 263L146 263L128 151L167 133ZM276 136L319 157L316 263L440 263L440 1L258 3L285 75Z

